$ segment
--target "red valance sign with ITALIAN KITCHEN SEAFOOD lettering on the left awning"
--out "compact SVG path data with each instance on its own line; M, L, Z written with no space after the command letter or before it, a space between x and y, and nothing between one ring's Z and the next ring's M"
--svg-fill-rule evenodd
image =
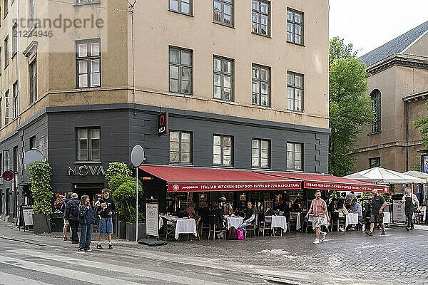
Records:
M170 182L168 192L230 192L230 191L269 191L300 190L300 181L275 182Z

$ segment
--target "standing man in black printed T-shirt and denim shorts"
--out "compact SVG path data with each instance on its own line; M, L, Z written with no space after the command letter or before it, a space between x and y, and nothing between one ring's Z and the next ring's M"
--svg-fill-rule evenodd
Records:
M98 243L96 245L97 249L103 249L101 246L102 234L107 234L108 238L108 249L113 249L111 245L111 234L113 234L113 219L111 216L116 212L116 207L114 206L113 199L110 197L110 190L104 188L102 191L103 197L98 199L95 203L96 213L100 217L100 224L98 229Z

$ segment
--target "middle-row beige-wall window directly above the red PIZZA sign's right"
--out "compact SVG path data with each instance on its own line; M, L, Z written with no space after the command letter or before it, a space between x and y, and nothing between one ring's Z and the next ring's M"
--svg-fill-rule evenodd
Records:
M170 47L169 51L169 90L173 93L192 94L193 52Z

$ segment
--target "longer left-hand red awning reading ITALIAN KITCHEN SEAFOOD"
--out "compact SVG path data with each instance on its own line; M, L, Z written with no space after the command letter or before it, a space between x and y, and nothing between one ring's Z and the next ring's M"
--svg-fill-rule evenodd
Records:
M268 176L251 170L198 167L150 166L140 169L165 180L168 192L230 192L301 190L302 182L287 177Z

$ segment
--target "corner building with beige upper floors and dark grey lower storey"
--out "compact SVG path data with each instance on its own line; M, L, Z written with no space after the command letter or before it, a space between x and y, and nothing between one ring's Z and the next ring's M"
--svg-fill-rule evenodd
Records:
M54 192L89 195L137 144L146 164L327 173L327 0L66 2L1 1L6 217L33 148Z

